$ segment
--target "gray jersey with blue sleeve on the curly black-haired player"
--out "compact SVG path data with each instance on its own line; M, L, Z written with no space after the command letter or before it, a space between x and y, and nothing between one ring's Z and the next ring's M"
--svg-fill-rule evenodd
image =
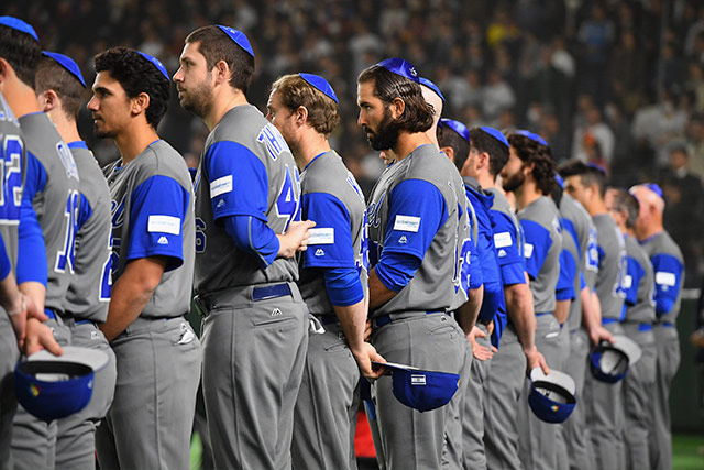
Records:
M112 278L130 259L168 256L144 310L147 318L178 317L190 307L195 223L190 175L184 159L158 140L127 165L103 168L112 199Z

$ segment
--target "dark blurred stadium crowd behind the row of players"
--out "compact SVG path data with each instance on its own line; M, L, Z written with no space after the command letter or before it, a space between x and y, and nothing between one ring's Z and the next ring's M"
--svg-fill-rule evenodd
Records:
M440 87L444 117L530 129L558 162L600 163L618 186L661 184L686 285L701 285L701 0L12 0L3 14L32 23L43 46L75 58L89 83L94 55L110 46L155 55L173 74L194 29L242 30L256 55L248 97L260 110L283 74L317 73L332 84L342 121L331 140L367 194L383 165L356 125L356 76L404 57ZM92 136L85 109L79 128L101 162L117 157L112 143ZM160 134L197 166L207 130L175 92Z

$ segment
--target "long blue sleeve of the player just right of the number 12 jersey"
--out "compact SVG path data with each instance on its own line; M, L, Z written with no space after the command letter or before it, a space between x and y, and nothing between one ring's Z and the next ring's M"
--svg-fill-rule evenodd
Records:
M48 264L42 227L32 205L34 196L46 186L46 171L30 152L26 154L26 176L20 206L18 284L38 282L46 286Z

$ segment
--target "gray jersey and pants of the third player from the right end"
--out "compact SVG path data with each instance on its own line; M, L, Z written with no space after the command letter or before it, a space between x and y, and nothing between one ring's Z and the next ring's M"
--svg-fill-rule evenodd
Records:
M620 334L624 314L626 276L626 242L616 222L608 214L594 216L598 251L596 295L602 306L602 324L613 334ZM586 425L594 449L595 468L623 468L624 409L622 383L600 382L586 374L584 401Z

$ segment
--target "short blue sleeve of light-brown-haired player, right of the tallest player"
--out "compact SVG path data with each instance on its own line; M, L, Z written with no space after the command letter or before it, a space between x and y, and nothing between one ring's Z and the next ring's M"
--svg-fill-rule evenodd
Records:
M305 194L302 218L316 222L304 252L304 269L354 267L350 212L340 199L327 193Z

